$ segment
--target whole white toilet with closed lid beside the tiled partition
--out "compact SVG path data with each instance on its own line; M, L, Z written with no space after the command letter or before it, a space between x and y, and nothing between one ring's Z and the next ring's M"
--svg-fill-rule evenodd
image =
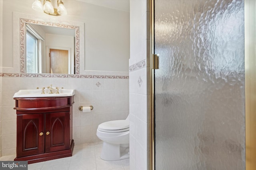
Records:
M98 125L96 135L103 141L103 160L129 158L129 115L125 120L107 121Z

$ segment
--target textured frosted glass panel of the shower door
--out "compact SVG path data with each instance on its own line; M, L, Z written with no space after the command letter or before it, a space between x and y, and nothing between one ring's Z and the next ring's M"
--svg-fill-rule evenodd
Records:
M155 169L244 170L243 0L154 0Z

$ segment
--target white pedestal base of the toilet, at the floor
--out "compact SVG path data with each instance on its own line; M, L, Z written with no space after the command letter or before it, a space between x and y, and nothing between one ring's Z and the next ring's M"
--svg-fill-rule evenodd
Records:
M122 160L130 157L129 144L103 142L101 156L103 160Z

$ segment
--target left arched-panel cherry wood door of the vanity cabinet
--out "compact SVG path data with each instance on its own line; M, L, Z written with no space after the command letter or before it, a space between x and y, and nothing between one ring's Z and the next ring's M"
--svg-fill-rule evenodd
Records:
M17 115L17 157L44 153L44 113Z

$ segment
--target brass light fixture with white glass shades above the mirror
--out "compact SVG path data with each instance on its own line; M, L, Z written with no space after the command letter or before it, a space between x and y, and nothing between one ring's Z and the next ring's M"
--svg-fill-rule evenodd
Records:
M52 16L67 15L67 10L64 7L62 0L57 0L57 9L52 6L51 0L44 0L43 4L41 3L41 0L35 0L32 4L32 8L38 12L44 12Z

